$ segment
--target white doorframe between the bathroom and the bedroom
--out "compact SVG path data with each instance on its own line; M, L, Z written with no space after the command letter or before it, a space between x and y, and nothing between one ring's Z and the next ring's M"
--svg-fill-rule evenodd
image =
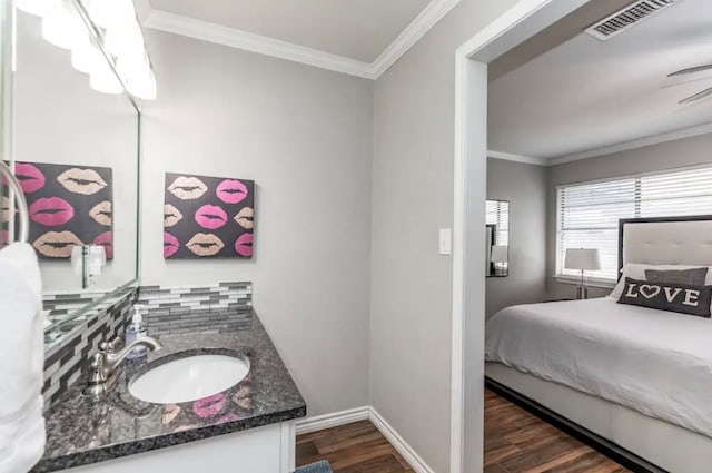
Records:
M487 62L589 1L521 0L455 52L449 473L483 470Z

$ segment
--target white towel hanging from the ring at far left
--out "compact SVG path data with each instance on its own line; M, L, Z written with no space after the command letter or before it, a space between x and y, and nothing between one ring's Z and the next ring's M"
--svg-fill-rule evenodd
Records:
M44 452L42 280L34 249L0 250L0 472L27 473Z

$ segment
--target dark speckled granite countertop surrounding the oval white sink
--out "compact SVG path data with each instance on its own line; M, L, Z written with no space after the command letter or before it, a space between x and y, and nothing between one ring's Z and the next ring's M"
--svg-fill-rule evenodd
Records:
M44 473L306 415L306 404L257 315L250 327L228 334L165 335L164 348L128 362L117 387L91 397L78 382L44 414L44 456L31 471ZM249 358L250 372L222 393L180 404L152 404L131 396L128 382L148 364L196 354ZM164 359L165 358L165 359Z

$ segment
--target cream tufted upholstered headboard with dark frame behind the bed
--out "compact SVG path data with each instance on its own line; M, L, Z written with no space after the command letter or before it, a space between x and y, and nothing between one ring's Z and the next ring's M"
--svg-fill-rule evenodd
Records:
M712 266L712 215L621 219L619 269L626 263Z

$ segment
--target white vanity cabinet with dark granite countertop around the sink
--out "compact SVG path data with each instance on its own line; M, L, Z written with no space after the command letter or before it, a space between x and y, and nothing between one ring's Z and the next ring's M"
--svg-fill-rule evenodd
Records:
M80 380L60 397L47 412L47 449L32 473L294 471L295 422L306 404L256 314L240 329L162 335L160 344L126 364L107 394L83 395ZM147 403L129 391L157 366L201 355L234 356L249 371L220 393L184 403Z

